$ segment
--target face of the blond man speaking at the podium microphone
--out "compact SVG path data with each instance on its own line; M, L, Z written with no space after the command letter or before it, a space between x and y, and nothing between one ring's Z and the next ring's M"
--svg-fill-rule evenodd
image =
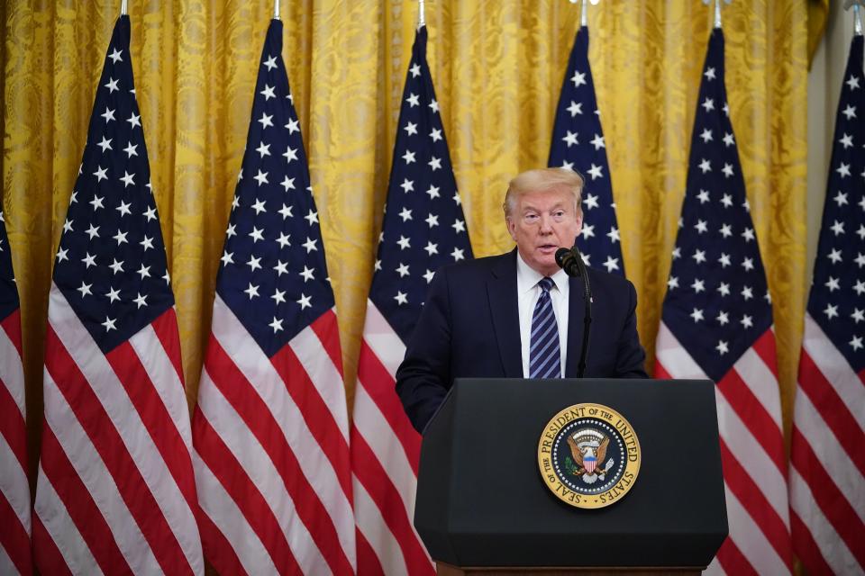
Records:
M564 186L517 197L508 215L507 230L525 263L539 274L550 276L559 270L556 250L571 247L583 226L574 195Z

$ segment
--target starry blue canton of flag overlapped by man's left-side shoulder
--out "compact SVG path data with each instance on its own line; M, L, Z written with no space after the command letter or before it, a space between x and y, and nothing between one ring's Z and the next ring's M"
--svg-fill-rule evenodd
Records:
M407 342L441 266L472 257L439 103L426 63L426 28L417 31L378 238L369 299Z

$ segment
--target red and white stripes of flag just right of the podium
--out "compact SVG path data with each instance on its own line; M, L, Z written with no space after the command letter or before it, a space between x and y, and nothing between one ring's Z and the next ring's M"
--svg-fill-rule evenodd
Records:
M663 323L656 355L658 378L707 378ZM775 358L775 336L769 329L715 386L730 536L709 573L792 571Z

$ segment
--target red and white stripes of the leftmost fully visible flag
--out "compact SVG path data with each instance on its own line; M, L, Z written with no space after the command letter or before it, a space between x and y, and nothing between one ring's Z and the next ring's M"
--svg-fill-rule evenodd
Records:
M104 355L52 285L33 542L41 572L204 572L175 311Z

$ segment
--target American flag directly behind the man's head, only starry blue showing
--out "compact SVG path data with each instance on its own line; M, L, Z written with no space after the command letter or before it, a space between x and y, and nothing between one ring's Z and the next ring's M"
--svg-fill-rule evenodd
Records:
M579 29L570 50L548 164L577 170L586 178L583 229L578 238L583 260L588 266L603 266L607 272L624 275L604 130L597 109L592 68L588 64L587 26Z

